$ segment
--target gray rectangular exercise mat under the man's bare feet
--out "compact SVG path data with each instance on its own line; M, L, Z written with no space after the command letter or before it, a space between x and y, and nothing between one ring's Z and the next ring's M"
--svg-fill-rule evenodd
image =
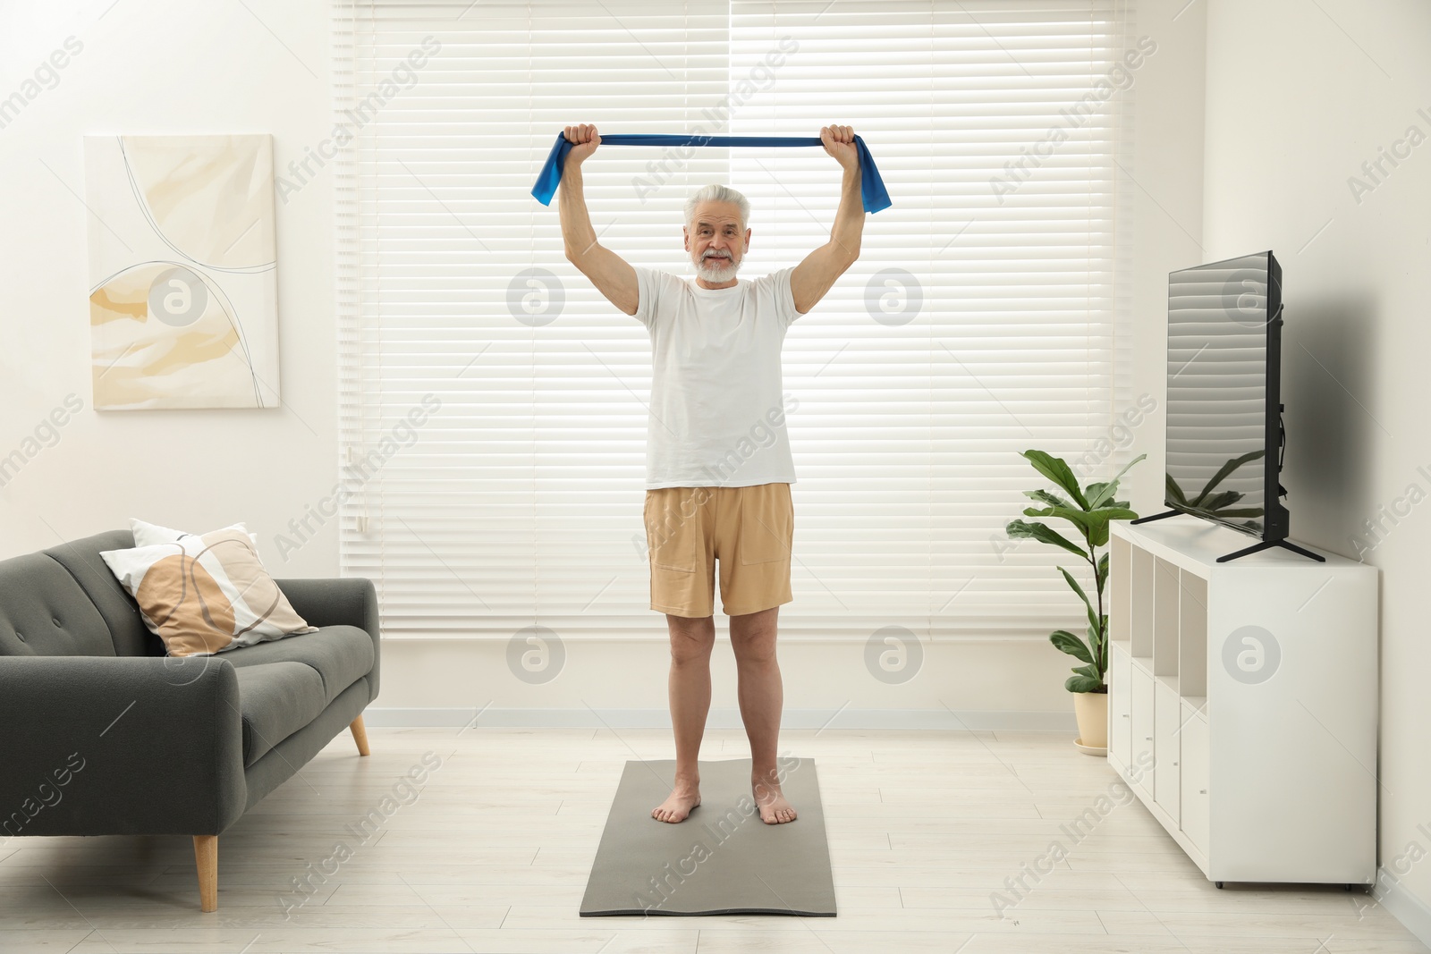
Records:
M673 759L627 762L581 900L581 915L801 914L834 917L834 878L814 759L781 757L798 817L760 821L750 759L701 762L701 804L651 818L671 794Z

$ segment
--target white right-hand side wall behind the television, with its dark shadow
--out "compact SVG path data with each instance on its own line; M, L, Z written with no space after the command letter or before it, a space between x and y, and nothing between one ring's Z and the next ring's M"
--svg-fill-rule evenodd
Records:
M1428 905L1431 142L1361 164L1431 140L1431 4L1212 0L1206 89L1206 260L1282 263L1292 536L1381 568L1381 864Z

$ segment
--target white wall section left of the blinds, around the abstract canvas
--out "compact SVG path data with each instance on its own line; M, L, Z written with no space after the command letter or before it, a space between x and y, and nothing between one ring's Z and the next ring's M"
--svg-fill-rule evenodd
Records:
M336 472L331 183L278 209L283 406L270 410L92 410L80 199L84 134L268 132L279 166L319 142L332 126L326 4L123 0L106 13L110 3L0 6L0 97L67 37L80 46L0 129L0 455L24 448L67 395L84 403L0 489L0 551L129 516L193 531L246 521L275 574L335 575L336 526L288 562L272 542Z

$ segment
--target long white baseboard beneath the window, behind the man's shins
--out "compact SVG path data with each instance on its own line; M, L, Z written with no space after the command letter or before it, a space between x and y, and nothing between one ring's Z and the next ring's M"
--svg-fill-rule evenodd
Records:
M475 719L475 722L474 722ZM363 712L369 727L461 728L671 728L665 709L451 709L369 707ZM741 728L740 709L711 709L710 728ZM786 709L781 728L787 729L964 729L964 731L1052 731L1075 732L1072 711L975 711L949 709Z

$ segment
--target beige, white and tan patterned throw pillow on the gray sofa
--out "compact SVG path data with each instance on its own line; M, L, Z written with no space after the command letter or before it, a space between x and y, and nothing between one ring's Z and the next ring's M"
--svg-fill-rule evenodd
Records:
M242 525L100 556L169 655L207 655L318 632L263 569Z

